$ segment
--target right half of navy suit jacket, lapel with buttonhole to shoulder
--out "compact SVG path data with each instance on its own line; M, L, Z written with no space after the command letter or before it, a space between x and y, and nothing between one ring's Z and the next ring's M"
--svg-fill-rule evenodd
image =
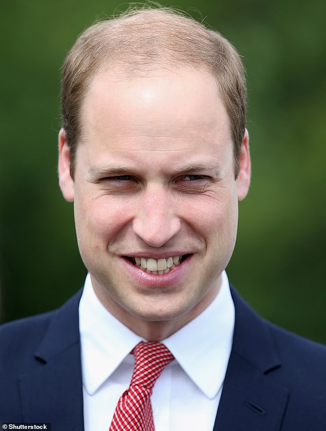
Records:
M247 398L242 397L250 392L251 401L269 412L269 417L276 418L274 409L278 409L279 424L273 429L326 429L326 347L266 321L236 290L231 289L231 293L236 321L222 411L229 412L236 397L243 403ZM239 422L239 429L240 425ZM271 428L257 425L243 429Z

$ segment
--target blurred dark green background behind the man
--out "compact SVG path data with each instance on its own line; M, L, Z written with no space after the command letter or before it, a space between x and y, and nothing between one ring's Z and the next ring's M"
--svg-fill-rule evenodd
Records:
M230 281L267 319L326 343L326 2L164 3L218 29L248 77L252 185ZM118 1L1 5L1 320L59 306L86 271L57 180L60 67ZM198 10L201 12L198 13Z

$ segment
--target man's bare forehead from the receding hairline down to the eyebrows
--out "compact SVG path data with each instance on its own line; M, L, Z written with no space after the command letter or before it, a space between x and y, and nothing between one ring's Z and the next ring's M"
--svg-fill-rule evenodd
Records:
M146 151L182 157L231 142L226 110L206 71L157 68L133 78L119 72L97 76L82 106L82 141L103 159L108 152L134 158Z

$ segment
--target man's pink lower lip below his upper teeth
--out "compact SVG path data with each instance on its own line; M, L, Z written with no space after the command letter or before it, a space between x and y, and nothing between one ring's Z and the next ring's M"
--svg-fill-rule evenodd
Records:
M187 257L182 263L170 269L169 272L161 275L151 274L133 265L128 259L122 258L124 268L128 272L133 282L143 287L173 287L185 277L189 268L192 255Z

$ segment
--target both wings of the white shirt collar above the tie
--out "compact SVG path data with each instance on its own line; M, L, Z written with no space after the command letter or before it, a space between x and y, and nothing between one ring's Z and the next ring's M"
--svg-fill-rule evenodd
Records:
M79 304L83 385L94 394L142 337L101 304L86 277ZM225 271L214 301L162 343L205 395L212 399L223 385L231 352L234 305ZM209 354L207 354L209 352Z

